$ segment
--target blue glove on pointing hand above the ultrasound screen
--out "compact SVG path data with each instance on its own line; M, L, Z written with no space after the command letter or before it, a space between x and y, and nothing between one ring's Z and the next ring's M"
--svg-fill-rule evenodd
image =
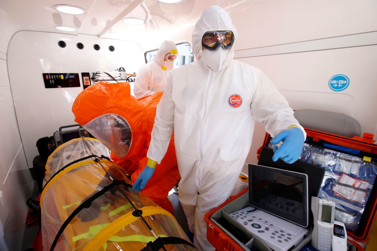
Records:
M283 144L277 148L275 144L280 141L283 141ZM274 145L273 148L275 153L274 156L272 156L272 160L277 161L277 159L280 158L284 162L292 164L301 156L304 141L304 133L297 126L279 132L273 140L271 140L271 144Z

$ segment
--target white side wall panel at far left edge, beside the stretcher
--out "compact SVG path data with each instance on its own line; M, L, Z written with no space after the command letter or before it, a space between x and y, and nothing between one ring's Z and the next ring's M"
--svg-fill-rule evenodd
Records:
M6 57L5 57L6 58ZM26 163L18 132L13 99L8 80L6 61L0 59L0 242L8 250L20 250L28 207L25 201L31 196L34 181ZM1 245L0 245L1 249Z

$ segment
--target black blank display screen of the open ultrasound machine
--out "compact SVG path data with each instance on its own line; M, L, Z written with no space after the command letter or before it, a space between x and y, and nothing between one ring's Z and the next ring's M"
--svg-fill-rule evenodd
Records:
M308 222L307 176L249 165L250 205L303 227Z

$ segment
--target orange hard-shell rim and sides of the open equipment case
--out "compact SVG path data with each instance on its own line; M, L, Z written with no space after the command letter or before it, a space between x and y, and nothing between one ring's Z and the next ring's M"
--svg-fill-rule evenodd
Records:
M377 144L373 142L373 134L371 133L364 133L363 137L353 137L347 138L339 135L334 135L331 133L320 132L317 130L307 129L305 128L305 132L307 132L307 138L312 138L313 141L325 141L329 144L339 145L342 147L351 148L354 150L358 150L361 152L377 154ZM266 133L264 142L262 147L267 146L270 142L271 136ZM257 151L258 159L261 153L260 147ZM377 187L377 184L375 184ZM373 227L373 223L377 214L377 192L376 188L372 190L371 196L369 197L369 205L365 208L364 214L368 217L362 219L363 222L360 222L359 228L356 232L347 231L348 235L348 242L352 243L357 251L363 251L361 245L357 242L367 242L369 240L369 233ZM225 205L231 203L233 200L241 196L242 194L246 193L248 188L242 191L241 193L237 194L236 196L232 197L231 199L224 202L224 204L220 205L218 208L210 211L209 213L205 214L204 220L207 222L207 240L216 248L216 250L224 250L224 251L244 251L236 242L234 242L227 234L225 234L220 228L218 228L212 221L211 216L224 207Z

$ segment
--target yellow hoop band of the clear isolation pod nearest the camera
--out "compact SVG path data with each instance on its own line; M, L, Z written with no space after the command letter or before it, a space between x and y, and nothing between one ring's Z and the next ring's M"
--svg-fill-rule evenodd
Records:
M143 207L139 208L139 210L143 211L143 217L150 216L153 214L165 214L167 216L172 217L173 220L176 219L173 217L171 213L162 209L161 207ZM106 243L111 237L115 236L120 230L122 230L125 226L129 225L130 223L138 220L139 217L135 217L132 215L132 211L126 214L123 214L118 219L114 220L110 223L106 228L100 231L93 239L86 244L83 251L92 251L100 249L104 243ZM178 224L178 223L176 223Z

